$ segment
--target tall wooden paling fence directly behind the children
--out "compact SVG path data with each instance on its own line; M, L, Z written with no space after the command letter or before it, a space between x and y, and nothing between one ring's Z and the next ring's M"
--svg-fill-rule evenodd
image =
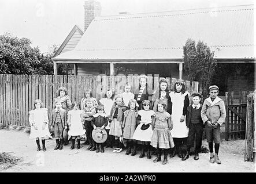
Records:
M156 90L161 79L158 76L148 76L149 87ZM176 79L166 78L166 80L173 89ZM139 87L139 76L0 74L0 122L3 125L27 127L28 112L34 109L34 100L41 99L50 113L57 90L61 86L66 87L71 101L81 101L86 89L91 89L93 97L100 99L107 89L114 89L116 94L123 93L127 82L131 84L131 92L134 93ZM185 81L185 84L190 94L198 91L198 82Z

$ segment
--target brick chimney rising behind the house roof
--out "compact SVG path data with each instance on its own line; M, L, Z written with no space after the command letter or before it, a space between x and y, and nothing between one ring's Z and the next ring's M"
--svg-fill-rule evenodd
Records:
M84 32L97 16L101 16L101 3L94 0L84 1Z

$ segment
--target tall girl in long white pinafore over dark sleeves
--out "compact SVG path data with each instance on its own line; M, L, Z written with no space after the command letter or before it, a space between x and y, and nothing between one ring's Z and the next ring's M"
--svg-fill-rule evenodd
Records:
M178 79L174 86L174 91L170 92L170 100L172 101L172 120L173 129L172 133L175 148L173 149L170 157L175 156L176 152L179 153L179 157L183 157L181 151L182 145L187 145L188 128L185 123L185 114L187 113L187 107L190 105L190 99L188 91L185 91L185 84L182 79Z

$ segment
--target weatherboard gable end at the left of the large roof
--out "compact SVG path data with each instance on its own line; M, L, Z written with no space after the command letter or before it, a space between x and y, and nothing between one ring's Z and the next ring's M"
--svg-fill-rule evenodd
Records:
M79 43L83 34L83 30L81 30L79 26L75 25L53 57L56 57L66 51L72 51L76 47L77 43Z

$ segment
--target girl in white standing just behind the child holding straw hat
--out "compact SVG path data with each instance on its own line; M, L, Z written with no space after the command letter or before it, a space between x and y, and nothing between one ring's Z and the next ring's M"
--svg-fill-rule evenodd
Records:
M101 98L99 100L99 103L101 103L104 106L104 111L107 114L107 116L110 116L110 111L112 106L114 105L114 90L107 90L105 93L105 97ZM108 121L108 120L107 120ZM107 140L106 140L106 148L111 147L112 148L112 140L113 137L109 135L109 129L110 129L110 122L107 122L106 132L107 132Z

